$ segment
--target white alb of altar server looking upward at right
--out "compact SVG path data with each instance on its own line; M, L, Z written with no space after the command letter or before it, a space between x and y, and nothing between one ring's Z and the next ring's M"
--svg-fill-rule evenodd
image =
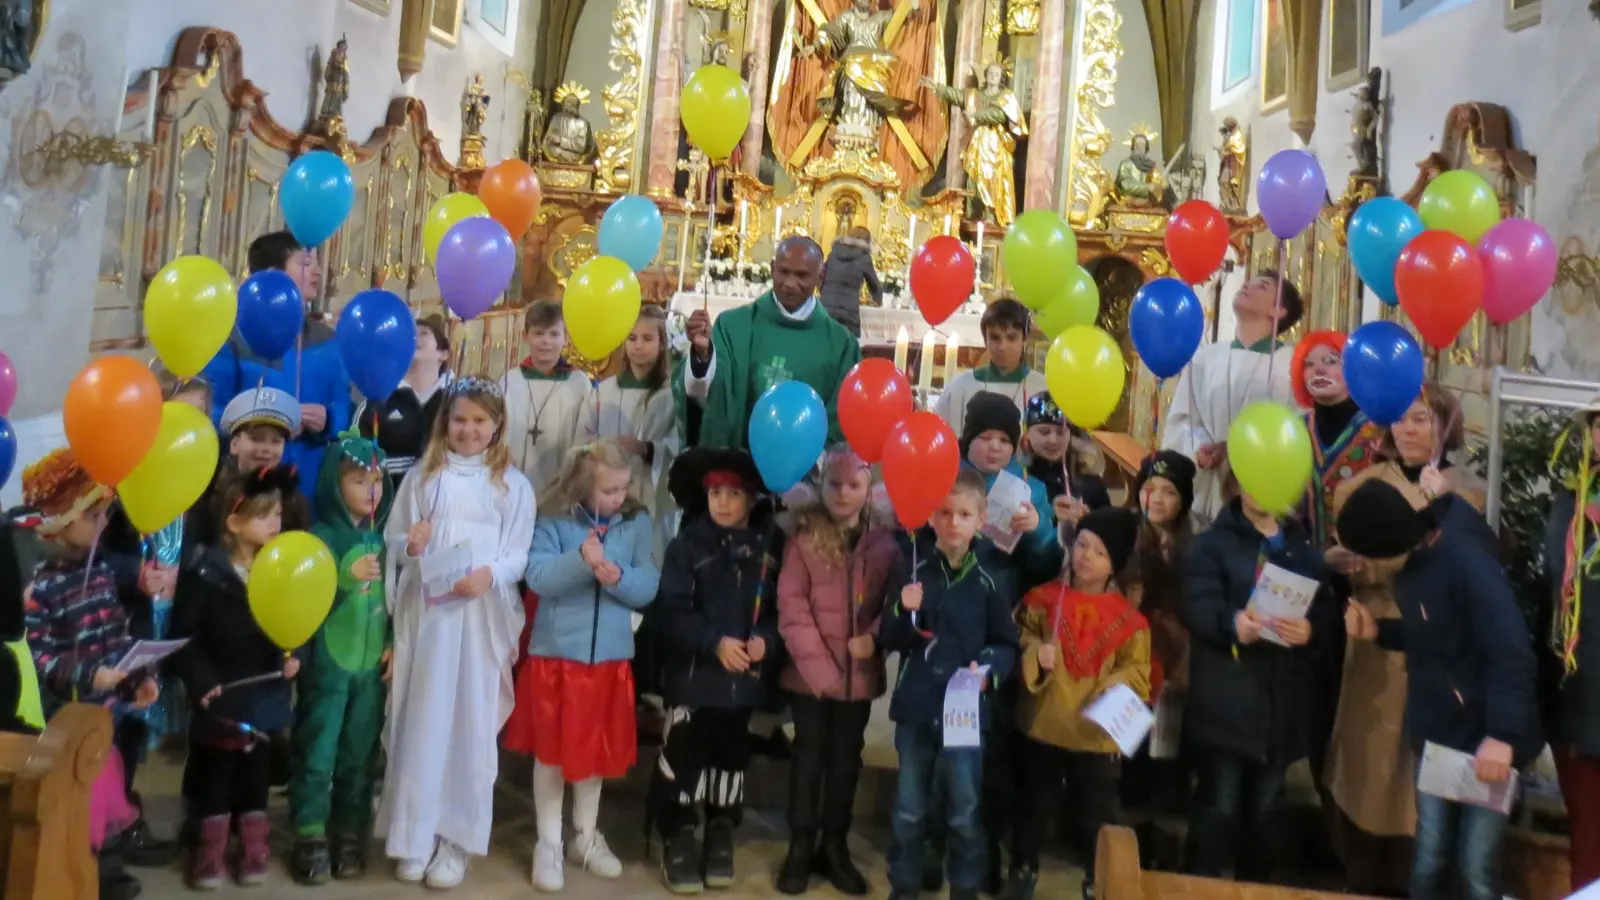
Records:
M1195 351L1189 368L1178 376L1173 405L1162 421L1162 450L1178 450L1195 458L1206 444L1224 444L1238 410L1256 400L1274 400L1299 408L1290 384L1290 357L1294 349L1280 346L1275 354L1245 349L1237 343L1214 343ZM1270 359L1270 365L1269 365ZM1270 394L1267 381L1270 376ZM1222 482L1227 461L1195 474L1195 524L1206 527L1222 511Z

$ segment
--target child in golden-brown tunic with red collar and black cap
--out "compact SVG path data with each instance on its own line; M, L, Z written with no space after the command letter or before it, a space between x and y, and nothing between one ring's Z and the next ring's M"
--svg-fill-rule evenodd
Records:
M1008 900L1032 900L1038 854L1062 783L1078 794L1074 844L1083 860L1083 897L1094 897L1094 841L1115 825L1120 751L1083 711L1112 685L1150 700L1150 626L1118 591L1139 535L1139 517L1102 508L1078 522L1069 572L1022 599L1022 783L1011 842Z

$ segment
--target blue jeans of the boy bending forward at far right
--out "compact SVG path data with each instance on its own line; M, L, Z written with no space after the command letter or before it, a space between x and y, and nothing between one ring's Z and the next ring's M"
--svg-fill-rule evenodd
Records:
M1445 873L1454 862L1470 900L1499 900L1496 862L1506 817L1493 809L1416 794L1416 857L1411 863L1411 900L1446 897Z

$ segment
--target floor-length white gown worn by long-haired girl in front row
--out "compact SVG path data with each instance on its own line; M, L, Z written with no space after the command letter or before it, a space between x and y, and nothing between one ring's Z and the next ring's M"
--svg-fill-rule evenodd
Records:
M376 833L395 860L427 860L437 838L488 855L494 820L496 737L515 700L510 668L522 637L517 581L528 565L534 500L528 479L506 469L494 484L483 456L450 453L432 479L413 468L395 495L387 544L387 599L394 618L394 682ZM466 543L472 565L494 583L483 596L429 607L421 560L406 532L432 522L427 552Z

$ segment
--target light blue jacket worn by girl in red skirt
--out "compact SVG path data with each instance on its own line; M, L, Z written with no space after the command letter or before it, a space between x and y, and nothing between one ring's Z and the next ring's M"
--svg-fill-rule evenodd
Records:
M579 548L589 536L589 520L542 516L533 528L528 551L528 588L539 594L528 653L579 663L634 658L634 617L656 599L661 570L651 559L650 516L608 519L600 536L605 557L622 570L622 580L605 588L584 562Z

